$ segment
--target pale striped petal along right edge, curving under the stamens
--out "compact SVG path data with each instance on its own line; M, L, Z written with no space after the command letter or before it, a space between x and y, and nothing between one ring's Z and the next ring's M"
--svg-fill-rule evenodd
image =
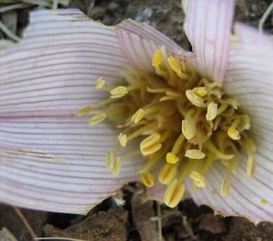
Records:
M205 189L191 191L197 204L207 204L227 215L245 215L255 221L273 220L273 41L257 30L236 25L229 66L225 77L226 93L241 103L251 117L251 131L257 145L257 169L253 178L246 177L246 160L242 160L227 197L220 195L225 168L214 164L206 174ZM188 181L188 186L191 184ZM261 200L266 200L263 204Z

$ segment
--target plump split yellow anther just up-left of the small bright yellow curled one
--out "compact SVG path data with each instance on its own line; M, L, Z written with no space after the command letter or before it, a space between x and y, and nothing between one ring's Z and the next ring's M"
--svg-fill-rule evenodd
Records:
M147 156L158 151L162 147L162 144L158 143L159 139L160 139L160 135L158 134L153 134L151 136L146 137L140 143L140 151L142 155Z

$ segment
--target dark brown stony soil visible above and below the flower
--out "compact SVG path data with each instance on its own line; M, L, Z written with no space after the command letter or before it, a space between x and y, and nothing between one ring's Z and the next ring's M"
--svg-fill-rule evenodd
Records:
M0 0L0 7L9 6L11 2L14 1ZM235 20L257 27L270 3L270 0L238 0ZM118 24L126 18L144 21L183 48L190 48L182 31L184 15L180 0L72 0L69 6L81 9L106 25ZM28 23L28 13L34 8L37 5L30 4L23 9L2 12L1 20L12 33L20 36ZM273 33L272 15L266 20L264 29ZM0 31L0 39L12 38ZM13 207L1 204L0 230L8 228L19 241L32 240L34 235L97 241L273 240L273 224L260 223L255 227L243 217L215 216L209 207L197 207L192 200L181 202L175 209L152 201L144 202L146 191L140 184L123 187L122 194L126 201L124 206L116 205L113 198L109 198L91 210L88 216L20 209L31 228L26 221L22 222L18 209L16 212ZM0 232L1 241L8 240L2 239L1 235Z

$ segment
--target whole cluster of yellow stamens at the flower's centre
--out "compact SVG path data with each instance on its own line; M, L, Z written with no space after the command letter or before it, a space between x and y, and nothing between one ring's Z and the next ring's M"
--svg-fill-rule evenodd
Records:
M250 129L249 116L238 113L238 101L229 98L220 83L200 77L188 62L168 56L165 47L155 52L153 66L154 75L134 69L123 71L130 83L126 86L106 86L99 78L96 89L109 92L110 97L77 112L82 116L99 109L88 120L90 125L110 118L122 130L117 145L107 154L106 167L116 176L123 161L144 156L147 162L140 170L143 183L154 185L153 169L159 166L158 180L168 185L164 202L175 207L184 194L185 178L192 179L195 188L204 188L204 174L213 162L220 162L226 168L220 193L227 196L231 173L236 174L241 161L241 147L248 157L247 176L255 172L256 147L245 132ZM139 148L118 155L121 148L139 137Z

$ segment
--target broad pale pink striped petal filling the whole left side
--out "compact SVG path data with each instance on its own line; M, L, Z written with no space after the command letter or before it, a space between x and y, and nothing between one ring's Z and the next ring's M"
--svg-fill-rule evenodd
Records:
M109 123L92 128L74 114L105 98L94 90L94 80L121 79L119 70L131 64L125 45L149 58L156 47L134 34L134 42L122 42L115 27L90 21L79 10L33 12L30 23L21 43L0 52L0 201L87 213L136 179L143 160L126 161L112 177L105 155L116 133Z

